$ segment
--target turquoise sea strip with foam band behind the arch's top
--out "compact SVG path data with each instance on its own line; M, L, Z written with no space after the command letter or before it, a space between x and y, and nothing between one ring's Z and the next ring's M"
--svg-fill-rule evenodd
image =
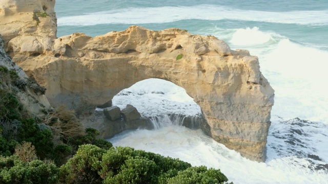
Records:
M96 36L112 30L125 30L135 24L154 30L177 27L187 29L193 34L211 34L202 30L215 27L238 29L256 26L262 31L273 31L295 41L322 45L324 49L327 49L328 44L328 1L274 1L274 3L268 1L96 1L90 3L81 0L57 0L56 12L59 18L58 36L74 31L83 31L88 35ZM65 17L69 17L68 20L71 21L65 21ZM64 20L60 21L61 18ZM81 22L75 21L76 18Z

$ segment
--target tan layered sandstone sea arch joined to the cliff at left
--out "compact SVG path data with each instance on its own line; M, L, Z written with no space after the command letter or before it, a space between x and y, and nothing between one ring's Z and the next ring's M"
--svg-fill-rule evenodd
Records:
M85 113L138 81L168 80L185 88L201 107L214 140L250 159L265 159L274 90L262 76L257 57L231 50L213 36L175 28L132 26L94 38L74 33L55 39L55 16L31 25L31 11L43 12L39 5L47 3L46 10L53 10L54 1L35 2L40 3L22 15L2 13L6 22L0 17L0 34L13 60L47 88L52 105L66 104ZM34 32L4 31L15 29L20 16L27 17L22 25Z

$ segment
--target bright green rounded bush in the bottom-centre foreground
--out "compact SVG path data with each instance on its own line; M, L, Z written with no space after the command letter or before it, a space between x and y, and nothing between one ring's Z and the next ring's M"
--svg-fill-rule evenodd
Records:
M100 149L82 145L60 167L63 183L224 183L220 170L191 167L179 159L134 150L130 147Z

